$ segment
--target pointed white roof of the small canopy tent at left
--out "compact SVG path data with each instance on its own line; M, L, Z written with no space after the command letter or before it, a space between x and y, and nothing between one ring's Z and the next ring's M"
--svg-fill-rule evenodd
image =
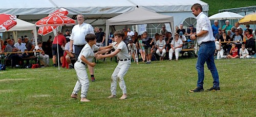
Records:
M16 19L17 25L13 26L10 30L8 31L29 31L29 30L36 30L36 26L33 23L21 20L21 19Z

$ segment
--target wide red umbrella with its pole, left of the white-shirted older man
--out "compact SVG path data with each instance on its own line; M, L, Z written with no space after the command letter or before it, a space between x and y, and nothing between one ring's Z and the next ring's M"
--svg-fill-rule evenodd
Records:
M74 24L75 24L75 20L67 16L58 16L58 15L47 16L35 23L36 26L61 26L61 25L74 25ZM58 38L57 38L57 44L58 44ZM57 47L57 52L59 52L58 47ZM60 70L59 55L58 55L58 69Z

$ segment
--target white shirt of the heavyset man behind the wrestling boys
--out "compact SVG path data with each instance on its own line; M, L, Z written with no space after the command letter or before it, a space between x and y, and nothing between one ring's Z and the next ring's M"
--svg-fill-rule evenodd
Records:
M84 45L86 42L86 35L94 34L93 26L88 23L77 24L73 27L70 40L73 40L74 45Z

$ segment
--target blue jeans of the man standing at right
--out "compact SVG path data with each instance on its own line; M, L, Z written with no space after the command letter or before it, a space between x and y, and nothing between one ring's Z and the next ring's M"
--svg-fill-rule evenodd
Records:
M215 53L215 42L202 42L198 51L198 60L197 60L197 72L198 72L198 81L197 87L203 87L204 84L204 64L206 62L208 69L211 72L212 77L214 78L214 87L219 87L219 74L214 63L214 53Z

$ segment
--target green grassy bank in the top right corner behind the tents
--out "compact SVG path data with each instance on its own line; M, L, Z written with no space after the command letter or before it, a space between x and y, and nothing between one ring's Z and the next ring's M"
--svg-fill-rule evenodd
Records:
M209 16L219 13L221 9L256 6L255 0L201 0L209 5Z

